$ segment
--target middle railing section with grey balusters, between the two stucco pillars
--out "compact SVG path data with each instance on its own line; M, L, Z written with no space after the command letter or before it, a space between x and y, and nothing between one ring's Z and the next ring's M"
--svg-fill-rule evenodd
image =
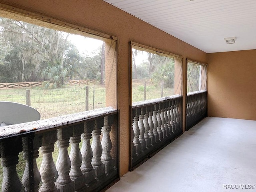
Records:
M130 170L182 134L182 96L132 104Z

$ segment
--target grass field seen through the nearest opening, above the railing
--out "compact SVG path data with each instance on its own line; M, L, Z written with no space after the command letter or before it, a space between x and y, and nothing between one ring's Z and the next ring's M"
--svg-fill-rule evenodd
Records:
M26 89L0 89L0 100L26 104ZM93 89L94 107L93 107ZM82 112L85 110L85 86L66 86L53 90L30 88L31 106L41 119ZM89 85L89 110L105 107L105 86Z

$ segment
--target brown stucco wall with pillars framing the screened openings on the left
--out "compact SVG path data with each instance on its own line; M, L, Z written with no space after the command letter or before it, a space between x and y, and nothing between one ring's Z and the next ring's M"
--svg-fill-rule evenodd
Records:
M120 172L128 172L129 160L129 41L206 62L207 55L169 34L102 0L3 0L23 10L50 16L119 38L118 108L120 109ZM186 88L183 89L184 93Z

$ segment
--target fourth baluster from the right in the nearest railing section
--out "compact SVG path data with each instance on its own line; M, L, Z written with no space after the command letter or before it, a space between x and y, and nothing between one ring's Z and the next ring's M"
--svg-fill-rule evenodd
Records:
M84 123L80 123L72 126L72 137L70 138L71 150L70 150L70 161L71 169L69 176L74 182L74 190L78 190L85 185L85 176L82 174L80 169L82 164L82 154L79 148L81 142L81 134L84 132Z

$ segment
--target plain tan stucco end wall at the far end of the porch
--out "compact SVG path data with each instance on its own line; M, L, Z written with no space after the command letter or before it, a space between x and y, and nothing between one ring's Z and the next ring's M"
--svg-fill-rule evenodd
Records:
M256 120L256 50L208 54L208 116Z

